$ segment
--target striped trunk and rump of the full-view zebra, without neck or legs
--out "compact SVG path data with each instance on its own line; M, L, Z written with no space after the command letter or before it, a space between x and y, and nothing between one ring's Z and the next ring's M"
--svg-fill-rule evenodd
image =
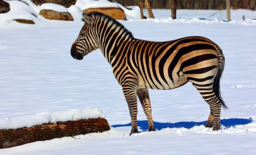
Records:
M216 44L207 38L188 37L169 42L136 40L129 66L138 74L140 87L174 89L187 83L214 81L219 67Z

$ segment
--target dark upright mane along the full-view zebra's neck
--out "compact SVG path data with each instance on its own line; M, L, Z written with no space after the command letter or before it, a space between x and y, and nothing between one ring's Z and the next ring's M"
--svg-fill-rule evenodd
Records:
M127 30L123 24L119 23L119 21L117 21L116 19L113 19L112 17L110 17L108 15L105 15L103 13L96 12L96 11L87 13L87 15L90 17L93 17L97 21L105 21L105 22L112 21L113 25L114 24L117 25L117 27L119 27L119 28L121 28L121 30L123 30L122 31L123 33L128 34L129 37L133 38L133 34L129 30Z

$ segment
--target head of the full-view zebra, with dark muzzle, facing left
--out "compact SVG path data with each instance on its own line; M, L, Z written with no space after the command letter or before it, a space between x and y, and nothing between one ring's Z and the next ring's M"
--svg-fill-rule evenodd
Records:
M96 35L96 19L92 14L83 13L84 26L71 47L71 56L77 60L82 60L86 54L98 48L98 37Z

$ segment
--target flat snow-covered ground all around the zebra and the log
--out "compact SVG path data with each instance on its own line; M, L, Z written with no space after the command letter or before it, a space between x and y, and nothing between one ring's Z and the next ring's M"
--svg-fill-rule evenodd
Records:
M256 18L255 11L153 10L156 19L120 21L143 40L205 36L222 48L226 66L222 129L203 125L209 106L188 83L169 91L150 90L156 132L146 132L139 106L139 134L129 136L131 120L125 97L100 50L82 61L70 56L82 21L38 21L24 25L0 21L0 118L48 111L98 107L111 125L101 134L34 142L0 150L0 154L255 154ZM245 15L246 21L241 17Z

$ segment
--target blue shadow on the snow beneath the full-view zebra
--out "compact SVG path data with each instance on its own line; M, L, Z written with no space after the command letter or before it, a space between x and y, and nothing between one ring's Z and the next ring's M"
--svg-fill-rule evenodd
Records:
M226 128L232 127L234 125L246 125L251 122L253 122L253 119L251 117L248 119L230 118L230 119L221 119L220 120L220 124L224 125ZM179 127L185 127L187 129L190 129L195 126L205 125L205 124L206 124L206 121L200 121L200 122L180 121L177 123L162 123L162 122L154 121L156 130L162 130L164 128L179 128ZM142 132L146 132L148 130L148 121L147 120L137 121L137 125L138 125L139 129L142 130ZM117 125L112 125L111 127L128 127L128 126L131 126L131 123L117 124Z

